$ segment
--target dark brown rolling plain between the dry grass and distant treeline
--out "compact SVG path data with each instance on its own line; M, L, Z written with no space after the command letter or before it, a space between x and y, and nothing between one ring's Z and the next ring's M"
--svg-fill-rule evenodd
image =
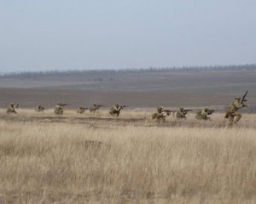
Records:
M224 109L249 90L249 111L255 111L256 69L195 71L91 71L24 74L0 77L0 107L10 102L32 108L56 102L70 108L113 103L131 108L212 106Z

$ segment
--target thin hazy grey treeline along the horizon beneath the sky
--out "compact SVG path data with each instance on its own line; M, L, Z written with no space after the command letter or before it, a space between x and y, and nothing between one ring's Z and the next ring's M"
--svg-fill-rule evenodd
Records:
M0 78L37 78L37 77L61 77L83 76L88 74L118 74L118 73L154 73L154 72L182 72L182 71L253 71L256 64L252 65L214 65L214 66L183 66L183 67L150 67L148 69L124 69L124 70L67 70L67 71L21 71L0 75Z

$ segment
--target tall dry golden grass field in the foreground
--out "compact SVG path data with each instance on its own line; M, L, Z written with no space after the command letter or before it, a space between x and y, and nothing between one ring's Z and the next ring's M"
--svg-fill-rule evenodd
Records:
M255 203L255 115L0 111L0 203ZM138 120L139 119L139 120Z

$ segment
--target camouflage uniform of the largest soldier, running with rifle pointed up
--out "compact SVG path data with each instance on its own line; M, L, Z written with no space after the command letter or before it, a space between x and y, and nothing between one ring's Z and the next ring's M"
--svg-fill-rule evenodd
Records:
M224 116L226 119L229 119L230 126L233 125L235 116L236 116L235 123L239 122L239 120L241 119L241 113L238 113L236 111L238 111L239 109L245 106L247 105L244 105L243 103L241 103L240 97L236 97L235 100L230 104L230 107L227 110L226 115Z

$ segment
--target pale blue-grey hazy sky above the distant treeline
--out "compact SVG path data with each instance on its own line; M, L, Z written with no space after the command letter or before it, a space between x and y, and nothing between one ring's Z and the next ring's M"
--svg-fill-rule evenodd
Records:
M0 0L0 72L255 62L255 0Z

